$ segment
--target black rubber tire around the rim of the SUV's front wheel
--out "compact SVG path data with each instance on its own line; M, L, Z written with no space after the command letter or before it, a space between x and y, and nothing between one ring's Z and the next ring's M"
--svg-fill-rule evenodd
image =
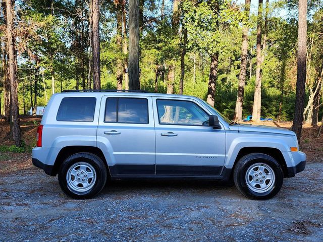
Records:
M256 163L262 163L269 166L275 174L275 181L273 182L272 186L269 186L268 190L264 190L264 192L252 191L247 185L246 172L252 165ZM247 198L254 200L267 200L274 197L282 188L284 172L281 165L272 156L263 153L251 153L243 156L238 161L234 168L233 179L238 191Z

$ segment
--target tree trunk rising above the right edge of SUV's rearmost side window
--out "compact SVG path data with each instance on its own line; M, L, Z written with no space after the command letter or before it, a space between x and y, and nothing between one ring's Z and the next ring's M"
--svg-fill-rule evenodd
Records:
M93 89L101 89L100 81L100 35L99 35L99 0L92 0L92 60L93 60Z

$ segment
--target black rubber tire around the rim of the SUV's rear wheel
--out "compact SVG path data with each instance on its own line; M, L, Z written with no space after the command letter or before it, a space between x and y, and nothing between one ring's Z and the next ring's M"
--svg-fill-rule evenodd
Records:
M88 164L94 168L96 173L91 188L85 192L74 190L73 187L68 185L67 181L68 170L78 162ZM103 161L98 156L87 152L76 153L64 160L58 173L58 179L61 189L69 197L74 199L90 199L99 194L104 188L107 180L107 170Z

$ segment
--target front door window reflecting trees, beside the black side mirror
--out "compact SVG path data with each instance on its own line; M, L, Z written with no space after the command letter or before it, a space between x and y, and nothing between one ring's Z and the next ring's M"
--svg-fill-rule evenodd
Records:
M160 125L208 126L209 115L194 102L157 99Z

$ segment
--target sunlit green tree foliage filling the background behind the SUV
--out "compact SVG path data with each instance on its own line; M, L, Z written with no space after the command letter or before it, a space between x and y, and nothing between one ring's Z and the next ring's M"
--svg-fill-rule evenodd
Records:
M165 8L162 16L161 1L144 1L144 25L140 29L141 88L154 92L156 67L162 66L163 70L157 73L157 92L165 93L168 66L174 65L174 90L175 93L179 92L183 28L186 28L184 94L206 99L210 55L219 52L214 106L229 118L233 118L240 73L242 26L248 25L250 28L248 68L243 116L250 115L256 71L256 13L251 11L249 20L243 12L244 6L237 5L236 1L231 0L180 1L179 24L174 28L172 25L173 1L164 2ZM314 87L323 63L321 35L323 8L321 1L314 2L309 3L308 53L310 56L308 56L307 97ZM20 113L24 113L24 106L25 111L30 109L35 96L36 81L38 106L47 104L45 96L47 95L48 99L51 96L52 78L55 79L56 92L61 89L75 89L77 79L80 81L80 89L82 78L85 79L85 87L89 85L91 53L88 5L86 2L74 0L57 0L52 3L53 14L50 1L17 2L19 7L17 8L16 27ZM121 53L116 45L115 3L102 1L100 12L101 88L115 89L117 58L127 56ZM0 23L3 23L3 18L0 19ZM0 37L3 34L4 32L0 31ZM265 58L262 65L261 116L277 118L282 101L281 118L291 120L294 111L297 73L297 1L271 2L267 46L263 51ZM4 73L3 67L0 72ZM91 79L91 75L89 77ZM0 84L0 91L2 89L2 84ZM3 103L3 99L1 101ZM15 148L3 147L1 149Z

